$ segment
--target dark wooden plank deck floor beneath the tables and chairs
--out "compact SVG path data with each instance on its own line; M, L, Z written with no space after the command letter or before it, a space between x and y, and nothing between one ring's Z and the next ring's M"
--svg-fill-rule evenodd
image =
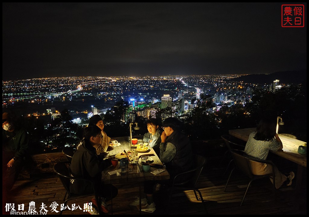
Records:
M203 169L198 181L198 188L201 190L204 205L197 201L192 191L184 191L174 194L172 202L167 206L168 192L158 191L154 194L156 211L154 213L142 212L143 215L197 215L197 214L307 214L307 170L304 168L302 189L296 193L295 185L276 190L276 200L274 198L271 182L268 179L252 182L247 196L242 206L240 205L243 194L248 184L248 178L235 172L231 178L227 191L224 186L228 174L223 174L226 164L220 165L220 159L211 159L213 163L208 163ZM209 161L208 161L209 162ZM295 180L294 180L295 181ZM294 183L294 182L293 182ZM132 210L129 204L139 194L138 185L115 185L119 192L113 199L113 214L138 215L138 210ZM64 197L65 190L56 176L42 177L39 179L18 180L8 198L3 198L3 212L7 203L14 203L15 210L18 211L18 204L24 204L24 211L28 211L29 202L34 201L36 211L40 211L42 203L48 210L47 214L57 214L51 211L50 205L53 202L60 204ZM83 198L79 201L69 201L71 208L75 203L83 209L83 204L91 198ZM110 203L110 202L109 202ZM63 215L86 214L79 208L77 210L63 211ZM112 214L109 212L108 214Z

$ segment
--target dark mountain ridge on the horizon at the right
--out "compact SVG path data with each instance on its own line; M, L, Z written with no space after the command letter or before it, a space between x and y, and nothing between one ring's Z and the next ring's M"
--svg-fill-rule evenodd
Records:
M244 81L245 83L270 84L276 79L280 80L279 83L281 84L302 84L307 82L307 70L245 75L231 80Z

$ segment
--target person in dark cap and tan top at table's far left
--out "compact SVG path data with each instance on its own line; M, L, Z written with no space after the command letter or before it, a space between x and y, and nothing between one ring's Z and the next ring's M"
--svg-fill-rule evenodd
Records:
M107 154L106 154L106 151L107 151L107 148L108 148L108 145L109 145L109 142L111 140L110 137L108 137L106 135L106 132L103 131L104 129L104 123L103 123L103 120L101 118L100 115L93 115L90 119L89 119L89 124L88 126L91 126L91 125L96 125L98 126L100 129L101 129L101 134L103 136L102 140L101 140L101 144L98 144L98 145L95 145L95 149L96 149L96 154L97 155L100 155L102 156L102 158L104 158ZM78 147L83 143L83 140L81 142L78 143L77 145L77 149ZM100 157L101 158L101 157Z

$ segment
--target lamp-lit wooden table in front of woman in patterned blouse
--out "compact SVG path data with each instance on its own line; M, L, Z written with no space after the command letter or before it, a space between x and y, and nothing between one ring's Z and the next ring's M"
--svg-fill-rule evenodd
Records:
M235 136L241 140L248 141L249 135L252 132L255 132L256 128L245 128L245 129L236 129L229 130L231 136ZM298 146L304 145L306 142L290 138L288 136L283 136L278 134L280 140L282 141L283 148L276 152L270 151L278 156L281 156L285 159L288 159L298 165L296 173L296 189L300 189L302 176L303 176L303 167L307 168L307 155L299 154Z

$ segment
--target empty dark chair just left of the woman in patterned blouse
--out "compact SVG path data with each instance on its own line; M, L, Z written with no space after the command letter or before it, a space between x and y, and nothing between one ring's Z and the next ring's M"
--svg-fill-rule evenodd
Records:
M238 138L236 138L234 136L230 136L230 135L222 135L221 138L224 140L225 145L227 147L227 151L224 153L222 161L224 160L224 158L226 156L229 155L231 149L241 150L241 151L245 150L245 147L246 147L245 141L239 140ZM231 160L229 161L229 163L228 163L228 165L225 169L224 174L226 174L227 170L230 168L230 165L233 161L233 158L231 156L230 156L230 158L231 158Z

